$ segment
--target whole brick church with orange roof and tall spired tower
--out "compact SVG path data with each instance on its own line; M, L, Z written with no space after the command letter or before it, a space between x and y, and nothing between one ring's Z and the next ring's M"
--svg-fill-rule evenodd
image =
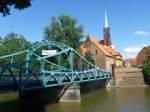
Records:
M80 47L82 53L90 53L95 65L103 69L111 70L112 65L115 65L116 67L123 66L121 54L112 47L110 27L108 25L106 12L103 36L103 40L96 40L94 37L87 36Z

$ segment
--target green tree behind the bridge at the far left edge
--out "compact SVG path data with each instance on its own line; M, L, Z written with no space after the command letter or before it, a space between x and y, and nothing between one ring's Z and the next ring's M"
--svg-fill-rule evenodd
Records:
M22 35L17 35L13 32L9 33L3 41L0 42L0 55L8 55L23 51L31 46L31 43L27 41ZM25 54L14 57L14 60L21 61L25 59ZM1 60L1 63L8 62L10 59Z

